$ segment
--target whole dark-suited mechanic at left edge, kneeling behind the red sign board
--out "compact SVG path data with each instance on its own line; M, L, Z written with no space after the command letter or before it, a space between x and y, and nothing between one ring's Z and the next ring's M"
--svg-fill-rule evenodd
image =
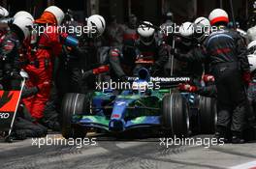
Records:
M22 78L21 67L24 64L24 42L30 39L30 30L34 18L31 14L16 14L12 23L9 23L10 31L3 38L0 47L1 55L1 84L4 91L19 91ZM37 88L24 87L21 97L26 98L37 93ZM25 139L26 137L40 137L47 133L47 128L33 123L29 114L24 115L22 102L18 106L14 128L11 133L13 139Z

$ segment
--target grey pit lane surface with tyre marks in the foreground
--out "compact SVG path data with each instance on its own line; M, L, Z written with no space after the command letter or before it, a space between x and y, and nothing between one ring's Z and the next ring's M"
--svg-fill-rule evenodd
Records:
M51 145L39 148L32 139L0 142L0 168L193 169L256 168L256 143L224 146L160 146L159 138L116 140L92 135L95 146ZM207 138L206 135L197 136ZM48 138L62 139L59 134Z

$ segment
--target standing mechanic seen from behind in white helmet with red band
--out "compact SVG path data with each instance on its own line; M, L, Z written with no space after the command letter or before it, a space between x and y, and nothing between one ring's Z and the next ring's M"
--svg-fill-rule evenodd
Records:
M231 126L232 143L243 143L245 113L249 111L245 91L250 81L247 49L238 32L227 29L229 16L224 10L213 10L208 19L217 27L204 42L218 91L216 136L226 138Z

